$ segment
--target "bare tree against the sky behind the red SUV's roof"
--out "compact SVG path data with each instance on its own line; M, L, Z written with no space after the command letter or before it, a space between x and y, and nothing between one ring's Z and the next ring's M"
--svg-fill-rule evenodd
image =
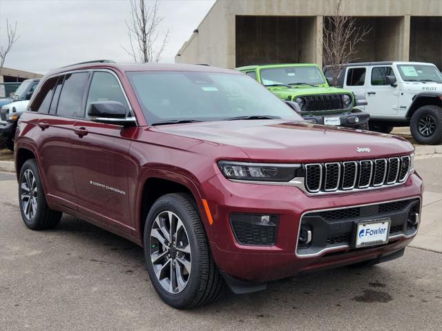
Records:
M160 37L158 28L164 17L158 16L160 2L146 5L146 0L131 0L131 21L126 21L131 48L123 49L135 62L158 62L169 41L169 29Z

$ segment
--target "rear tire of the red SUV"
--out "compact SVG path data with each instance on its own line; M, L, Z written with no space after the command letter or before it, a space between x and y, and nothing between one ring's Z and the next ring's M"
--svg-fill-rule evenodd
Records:
M28 199L28 204L26 204L26 190L23 188L23 180L26 181L26 174L32 173L35 180L35 192L30 192L29 197L35 197L35 203L30 203ZM31 185L31 187L34 187ZM19 176L19 205L21 218L25 225L32 230L44 230L55 228L61 219L61 212L56 210L51 210L46 203L46 197L43 190L43 185L41 185L41 177L39 173L39 168L35 159L29 159L26 161L20 170ZM32 205L35 208L32 217L28 217L30 212L27 211L26 206ZM35 207L34 207L35 206Z

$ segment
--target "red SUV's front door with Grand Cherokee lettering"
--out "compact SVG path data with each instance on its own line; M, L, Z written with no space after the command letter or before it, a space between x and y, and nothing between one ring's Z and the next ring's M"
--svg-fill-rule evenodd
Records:
M133 232L128 192L129 174L135 163L129 155L135 128L90 121L87 109L95 101L119 101L131 107L116 74L93 72L86 98L84 117L75 122L73 176L78 192L79 212L124 232Z

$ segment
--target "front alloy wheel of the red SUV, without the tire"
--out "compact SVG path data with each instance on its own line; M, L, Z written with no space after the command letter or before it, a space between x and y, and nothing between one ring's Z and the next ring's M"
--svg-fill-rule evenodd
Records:
M180 217L160 212L153 221L150 238L153 272L162 288L171 294L182 292L191 274L191 245Z

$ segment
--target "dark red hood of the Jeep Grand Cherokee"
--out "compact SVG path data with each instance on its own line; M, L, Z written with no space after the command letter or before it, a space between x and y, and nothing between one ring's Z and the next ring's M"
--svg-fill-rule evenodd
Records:
M374 159L409 154L414 148L390 134L318 126L303 121L240 120L157 126L156 130L236 146L254 161L314 162ZM357 148L369 152L357 152ZM220 155L220 158L226 157Z

